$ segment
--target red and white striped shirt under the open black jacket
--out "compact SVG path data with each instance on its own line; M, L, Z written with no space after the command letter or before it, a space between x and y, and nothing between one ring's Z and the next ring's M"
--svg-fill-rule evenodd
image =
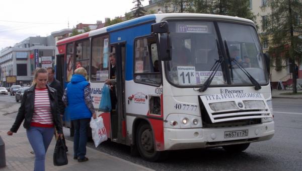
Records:
M50 100L47 88L35 89L34 112L31 126L53 127Z

